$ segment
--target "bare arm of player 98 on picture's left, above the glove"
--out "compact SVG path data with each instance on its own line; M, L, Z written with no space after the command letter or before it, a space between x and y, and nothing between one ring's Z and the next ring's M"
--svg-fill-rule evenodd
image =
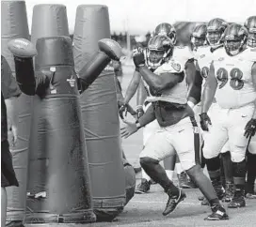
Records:
M215 67L212 62L206 84L201 98L201 113L207 113L216 95L217 81L215 76Z

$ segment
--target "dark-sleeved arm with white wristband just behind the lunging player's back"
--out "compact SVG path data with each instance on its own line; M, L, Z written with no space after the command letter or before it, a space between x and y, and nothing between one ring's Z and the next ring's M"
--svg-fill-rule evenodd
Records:
M186 83L188 85L187 104L193 108L200 102L202 77L198 63L187 62L185 66Z

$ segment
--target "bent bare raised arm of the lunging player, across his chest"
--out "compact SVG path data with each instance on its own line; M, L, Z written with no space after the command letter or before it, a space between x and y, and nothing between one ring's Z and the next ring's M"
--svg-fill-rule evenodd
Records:
M140 75L156 92L172 88L184 80L184 71L179 73L164 72L160 75L154 74L149 68L142 66L138 68Z

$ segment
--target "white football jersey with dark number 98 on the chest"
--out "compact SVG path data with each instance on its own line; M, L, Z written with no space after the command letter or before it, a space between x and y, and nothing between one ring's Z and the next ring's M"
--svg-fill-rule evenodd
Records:
M230 56L225 49L213 54L217 80L216 102L221 108L239 108L256 99L256 87L252 82L251 68L256 62L250 49Z

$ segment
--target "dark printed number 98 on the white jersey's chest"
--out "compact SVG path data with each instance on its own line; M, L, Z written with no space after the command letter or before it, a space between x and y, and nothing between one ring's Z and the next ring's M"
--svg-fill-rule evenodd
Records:
M244 86L243 72L239 68L232 68L230 72L230 85L234 90L240 90ZM218 88L221 89L223 86L228 83L229 80L229 72L225 68L218 68L216 71L216 79L220 82Z

